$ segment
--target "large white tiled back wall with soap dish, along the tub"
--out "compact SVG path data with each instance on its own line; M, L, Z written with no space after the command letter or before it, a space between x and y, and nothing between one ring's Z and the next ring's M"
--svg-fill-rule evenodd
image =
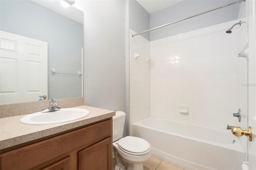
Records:
M237 54L247 41L239 34L246 24L226 34L237 22L150 42L150 115L219 128L237 124L232 113L246 82L246 59ZM179 106L188 106L188 113L180 113Z

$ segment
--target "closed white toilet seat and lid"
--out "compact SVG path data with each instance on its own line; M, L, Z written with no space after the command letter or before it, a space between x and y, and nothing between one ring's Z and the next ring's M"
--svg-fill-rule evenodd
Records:
M144 155L150 152L150 144L138 137L126 136L117 142L118 148L131 155Z

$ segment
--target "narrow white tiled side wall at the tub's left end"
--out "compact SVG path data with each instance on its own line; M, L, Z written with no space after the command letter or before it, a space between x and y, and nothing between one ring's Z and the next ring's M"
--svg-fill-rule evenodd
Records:
M130 35L136 34L130 30ZM136 59L134 54L140 55ZM130 123L150 116L150 42L130 36Z

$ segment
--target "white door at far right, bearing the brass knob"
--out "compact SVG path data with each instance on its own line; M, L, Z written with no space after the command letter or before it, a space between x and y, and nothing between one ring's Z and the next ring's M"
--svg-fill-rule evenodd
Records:
M248 126L252 127L252 141L248 142L249 170L256 170L256 2L248 0Z

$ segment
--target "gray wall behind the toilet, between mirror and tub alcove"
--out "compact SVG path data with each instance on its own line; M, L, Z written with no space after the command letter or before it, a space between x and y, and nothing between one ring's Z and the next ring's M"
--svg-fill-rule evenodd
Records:
M78 1L84 12L85 105L125 111L125 1Z

